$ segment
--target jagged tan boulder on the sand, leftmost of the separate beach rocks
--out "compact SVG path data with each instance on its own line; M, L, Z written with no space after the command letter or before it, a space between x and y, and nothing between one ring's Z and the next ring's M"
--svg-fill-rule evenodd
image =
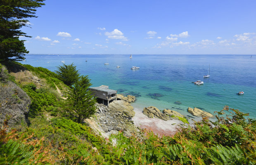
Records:
M159 118L166 121L171 119L168 115L161 113L161 111L154 106L145 107L142 113L149 118Z

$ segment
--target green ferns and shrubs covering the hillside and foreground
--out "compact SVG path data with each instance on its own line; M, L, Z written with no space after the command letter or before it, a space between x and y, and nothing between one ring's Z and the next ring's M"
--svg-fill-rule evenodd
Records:
M0 65L1 94L8 98L8 105L16 102L21 107L23 118L15 115L2 115L4 101L0 102L0 164L55 164L55 165L254 165L256 164L256 120L247 119L248 114L225 106L216 112L217 120L211 122L208 118L187 125L185 118L180 118L186 125L180 127L173 136L158 137L153 132L145 132L141 141L136 136L125 137L122 132L109 139L102 139L90 127L78 120L79 114L75 104L86 106L87 102L75 103L77 96L86 96L90 86L87 76L79 77L73 86L69 87L59 80L56 73L40 67L23 65L40 78L42 85L36 81L30 83L15 82L5 67ZM10 78L12 77L12 78ZM14 82L11 81L14 80ZM43 81L45 80L45 81ZM70 99L62 100L56 92L54 84L62 87L64 96ZM12 86L8 86L12 83ZM46 84L44 84L45 82ZM17 88L20 87L20 88ZM14 92L2 92L12 87ZM16 88L14 88L16 87ZM17 90L20 89L20 90ZM23 89L31 98L29 111L25 111L24 103L28 101ZM16 94L16 93L17 94ZM8 95L9 94L9 95ZM73 98L72 98L73 95ZM11 101L12 102L9 102ZM73 100L73 101L72 101ZM92 100L89 98L88 100ZM24 102L25 101L25 102ZM23 104L21 104L23 103ZM21 105L24 105L22 108ZM65 106L64 106L65 105ZM69 111L66 110L69 107ZM82 109L82 108L81 108ZM90 109L90 108L88 108ZM86 111L86 109L83 109ZM83 111L83 112L84 112ZM65 112L63 113L60 112ZM93 112L93 111L92 111ZM9 114L13 113L9 111ZM28 118L25 118L28 113ZM46 113L46 114L45 114ZM72 114L73 113L73 114ZM90 113L90 111L88 112ZM226 117L224 117L226 115ZM51 116L48 118L47 116ZM21 120L23 128L15 126ZM71 120L70 120L71 119ZM79 123L77 123L79 122ZM19 122L16 123L19 125ZM16 128L11 130L11 128ZM17 130L18 129L18 130ZM113 146L111 141L116 141Z

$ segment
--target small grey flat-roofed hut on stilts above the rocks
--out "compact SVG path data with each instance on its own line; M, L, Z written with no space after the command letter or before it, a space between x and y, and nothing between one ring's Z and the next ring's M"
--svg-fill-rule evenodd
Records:
M98 100L100 100L100 102L102 100L102 104L107 103L107 106L109 106L109 101L117 99L117 91L110 90L109 86L106 85L101 85L100 87L89 87L89 90L95 97L97 97Z

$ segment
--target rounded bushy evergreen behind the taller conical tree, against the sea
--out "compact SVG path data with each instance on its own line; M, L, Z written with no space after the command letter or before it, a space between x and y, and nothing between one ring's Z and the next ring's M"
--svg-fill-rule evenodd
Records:
M63 66L57 66L57 68L58 70L55 72L59 76L59 80L62 80L64 84L71 86L78 81L80 74L73 63L70 65L63 64Z

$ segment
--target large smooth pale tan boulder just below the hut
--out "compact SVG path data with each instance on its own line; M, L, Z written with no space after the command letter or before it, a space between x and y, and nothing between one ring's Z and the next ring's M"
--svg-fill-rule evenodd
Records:
M123 113L128 117L133 117L135 112L133 111L133 106L124 100L114 100L109 103L109 109L114 113Z

